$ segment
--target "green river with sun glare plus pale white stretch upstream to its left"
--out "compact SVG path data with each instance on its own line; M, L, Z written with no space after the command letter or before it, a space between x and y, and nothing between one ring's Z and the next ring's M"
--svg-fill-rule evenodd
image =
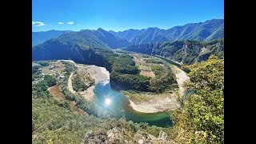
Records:
M91 74L91 77L96 80L96 85L92 92L94 95L91 95L93 98L91 102L92 109L89 114L97 116L107 114L111 118L122 118L124 116L126 121L147 122L150 126L172 126L172 121L168 112L143 113L134 110L130 106L130 101L125 95L117 90L111 89L110 73L106 68L99 66L85 66L70 60L65 61L74 63L78 69L86 68ZM85 97L88 97L88 94L86 94Z

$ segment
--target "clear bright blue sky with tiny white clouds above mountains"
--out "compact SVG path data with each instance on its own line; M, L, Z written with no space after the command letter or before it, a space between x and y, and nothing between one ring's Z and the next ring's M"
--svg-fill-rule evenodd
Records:
M224 0L32 0L32 31L169 29L213 18L224 18Z

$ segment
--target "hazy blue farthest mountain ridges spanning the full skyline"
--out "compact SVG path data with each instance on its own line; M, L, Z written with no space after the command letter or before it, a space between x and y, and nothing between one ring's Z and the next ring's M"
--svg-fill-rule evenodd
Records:
M80 30L78 32L71 32L70 30L32 32L32 46L59 36L62 39L73 39L74 42L82 42L87 46L103 46L112 49L132 44L174 40L211 41L224 38L224 20L212 19L206 22L189 23L184 26L174 26L168 30L150 27L142 30L130 29L119 32L106 31L101 28L98 30Z

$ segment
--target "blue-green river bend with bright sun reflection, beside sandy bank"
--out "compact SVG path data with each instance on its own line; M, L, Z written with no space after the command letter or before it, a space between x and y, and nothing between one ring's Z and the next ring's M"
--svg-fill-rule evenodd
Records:
M133 110L129 105L129 99L117 90L111 89L110 80L106 79L96 84L94 88L94 108L97 113L107 113L113 118L124 116L126 121L147 122L150 126L172 126L168 112L142 113Z

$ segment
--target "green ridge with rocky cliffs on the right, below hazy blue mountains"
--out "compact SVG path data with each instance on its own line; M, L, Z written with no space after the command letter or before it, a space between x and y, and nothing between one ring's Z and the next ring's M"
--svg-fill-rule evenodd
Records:
M174 41L156 42L142 45L132 45L122 50L134 51L142 54L160 55L174 61L191 64L207 60L211 54L218 58L224 57L224 39L211 42Z

